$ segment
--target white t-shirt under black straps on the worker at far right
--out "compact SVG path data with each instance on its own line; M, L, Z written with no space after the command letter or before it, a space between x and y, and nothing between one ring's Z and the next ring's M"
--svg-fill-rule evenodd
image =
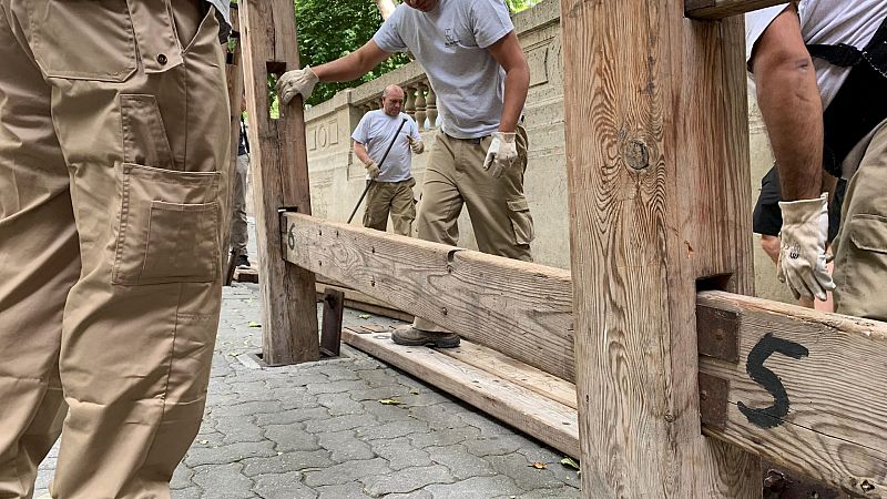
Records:
M784 3L745 14L746 61L751 60L752 50L764 30L787 6L788 3ZM801 34L806 44L846 43L861 50L875 35L886 16L887 0L801 0L798 3ZM832 65L818 58L813 59L813 64L816 68L816 83L823 109L826 109L849 75L850 68ZM853 175L869 142L871 134L850 151L843 164L843 176Z

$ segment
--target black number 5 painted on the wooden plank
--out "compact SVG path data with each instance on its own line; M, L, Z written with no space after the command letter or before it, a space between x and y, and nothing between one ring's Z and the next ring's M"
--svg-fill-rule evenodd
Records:
M761 428L775 428L782 425L783 418L788 414L788 394L785 393L782 379L764 367L764 361L777 352L795 359L809 355L809 350L804 345L777 338L771 333L764 335L748 353L745 370L755 383L763 386L773 396L774 403L762 409L753 409L743 403L740 403L738 406L748 422Z

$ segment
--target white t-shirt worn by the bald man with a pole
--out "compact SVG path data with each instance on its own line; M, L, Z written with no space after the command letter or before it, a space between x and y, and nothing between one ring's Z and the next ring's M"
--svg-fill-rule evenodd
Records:
M400 133L395 140L388 157L385 163L381 163L381 157L391 143L400 122L406 119L407 122L400 129ZM384 110L377 109L364 114L360 123L354 129L351 139L359 142L367 147L369 157L381 167L381 173L376 179L376 182L400 182L412 176L412 151L409 147L407 135L415 140L421 140L419 136L419 128L416 121L409 118L409 114L400 113L397 116L389 116ZM369 179L369 177L367 177Z

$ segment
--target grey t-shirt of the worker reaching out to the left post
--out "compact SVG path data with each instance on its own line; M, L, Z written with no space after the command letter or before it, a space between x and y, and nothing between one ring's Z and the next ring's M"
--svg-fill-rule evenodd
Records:
M440 0L430 12L401 3L373 37L386 52L410 51L437 93L443 133L499 128L506 72L486 49L514 30L503 0Z

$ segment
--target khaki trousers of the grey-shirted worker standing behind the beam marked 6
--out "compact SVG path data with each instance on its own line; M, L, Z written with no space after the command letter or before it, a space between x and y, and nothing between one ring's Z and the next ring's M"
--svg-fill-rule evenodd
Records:
M478 141L437 133L416 222L419 238L455 246L459 241L458 218L465 205L481 252L532 262L533 218L523 195L527 131L518 126L518 162L499 179L483 170L491 142L489 136ZM446 330L420 317L416 317L414 326Z

